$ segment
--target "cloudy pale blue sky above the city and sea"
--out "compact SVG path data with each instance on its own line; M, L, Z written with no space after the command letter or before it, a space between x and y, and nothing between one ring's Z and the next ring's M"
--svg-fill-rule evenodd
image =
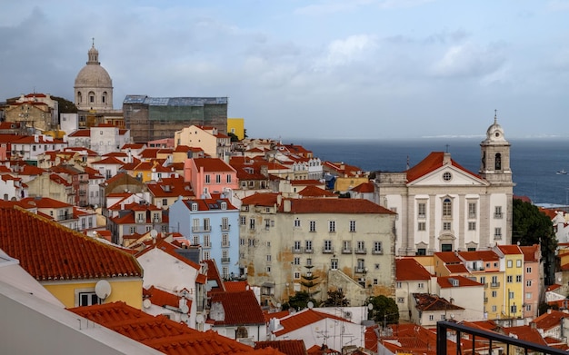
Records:
M0 101L228 97L249 137L569 137L569 0L5 2Z

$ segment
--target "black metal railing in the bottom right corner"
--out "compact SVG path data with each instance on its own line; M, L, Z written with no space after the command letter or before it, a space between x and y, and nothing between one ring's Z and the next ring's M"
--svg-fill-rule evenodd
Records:
M519 340L516 338L508 337L503 334L487 331L487 330L479 330L470 327L466 327L462 324L454 323L453 321L439 321L436 323L436 353L437 355L449 355L452 354L453 351L448 349L447 345L447 334L449 330L454 331L454 347L456 348L454 353L455 354L475 354L481 353L480 349L476 349L476 345L480 347L480 345L484 345L484 353L494 353L495 350L500 350L499 348L505 348L503 351L499 351L500 353L506 354L513 354L513 353L524 353L528 354L530 352L537 352L542 354L552 354L552 355L567 355L567 352L564 350L544 346L541 344L537 344L534 342L526 341L526 340ZM472 349L466 349L463 347L462 343L464 338L463 335L468 334L471 336L472 340ZM452 340L451 340L452 341ZM516 352L514 348L519 348L523 351ZM490 351L488 351L490 350Z

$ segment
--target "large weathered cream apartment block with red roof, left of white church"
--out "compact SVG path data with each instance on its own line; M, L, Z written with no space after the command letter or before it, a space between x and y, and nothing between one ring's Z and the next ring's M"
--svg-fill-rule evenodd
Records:
M372 295L394 297L394 220L367 200L256 193L241 206L240 271L261 286L265 305L297 291L325 300L340 288L352 306Z

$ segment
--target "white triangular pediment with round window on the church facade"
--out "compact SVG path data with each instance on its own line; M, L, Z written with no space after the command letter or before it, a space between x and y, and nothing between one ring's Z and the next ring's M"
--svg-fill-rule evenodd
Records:
M484 179L454 165L444 165L433 172L425 173L408 186L487 186Z

